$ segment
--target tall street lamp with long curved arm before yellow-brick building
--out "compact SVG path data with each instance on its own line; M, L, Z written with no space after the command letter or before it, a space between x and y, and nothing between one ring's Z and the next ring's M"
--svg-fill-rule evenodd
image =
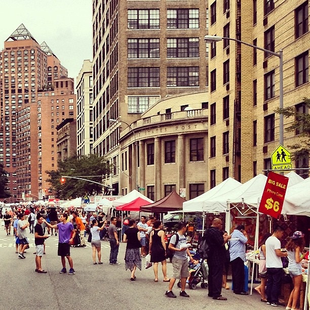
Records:
M279 73L280 73L280 94L279 94L279 108L282 109L283 108L283 51L280 50L279 53L275 53L263 48L260 48L258 46L246 43L244 41L240 41L237 40L236 38L232 38L232 37L222 37L222 36L217 36L217 35L205 35L204 40L206 41L206 43L213 43L213 42L218 42L221 40L230 40L230 41L235 41L247 46L252 47L253 49L256 50L260 50L272 55L275 55L277 57L279 57L280 59L280 66L279 66ZM279 143L281 145L283 145L284 141L283 141L283 133L284 133L284 127L283 127L283 113L280 113L280 120L279 120Z

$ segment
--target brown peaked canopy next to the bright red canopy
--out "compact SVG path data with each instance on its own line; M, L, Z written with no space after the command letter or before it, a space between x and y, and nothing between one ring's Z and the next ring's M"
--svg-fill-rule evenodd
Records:
M166 213L168 211L177 211L183 209L183 202L186 200L178 195L178 193L173 190L166 197L146 205L141 205L140 211L143 212L157 212L157 213Z

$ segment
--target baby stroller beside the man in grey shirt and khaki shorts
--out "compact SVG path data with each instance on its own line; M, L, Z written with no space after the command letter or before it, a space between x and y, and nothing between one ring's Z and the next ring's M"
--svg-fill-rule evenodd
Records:
M191 251L190 251L191 252ZM208 287L208 265L205 259L200 258L199 253L191 253L194 254L192 258L194 259L194 263L191 261L188 262L188 271L189 278L186 283L188 283L188 287L191 290L196 290L197 284L201 283L201 288ZM181 287L181 282L178 282L178 287Z

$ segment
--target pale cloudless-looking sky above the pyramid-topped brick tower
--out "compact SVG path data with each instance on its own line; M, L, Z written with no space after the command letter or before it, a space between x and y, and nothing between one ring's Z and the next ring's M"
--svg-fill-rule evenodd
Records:
M1 0L0 49L19 27L46 42L70 78L92 60L92 0Z

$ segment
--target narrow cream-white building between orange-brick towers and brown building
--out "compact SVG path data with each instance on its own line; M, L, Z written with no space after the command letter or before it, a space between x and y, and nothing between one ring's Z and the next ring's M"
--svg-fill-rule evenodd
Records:
M90 60L84 60L76 78L76 94L77 154L83 156L93 152L93 70Z

